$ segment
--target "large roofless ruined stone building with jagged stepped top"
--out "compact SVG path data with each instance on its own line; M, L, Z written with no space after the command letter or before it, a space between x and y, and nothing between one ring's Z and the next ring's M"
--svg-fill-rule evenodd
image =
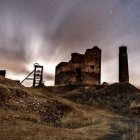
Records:
M55 85L99 85L101 49L87 49L85 54L72 53L69 62L56 66Z

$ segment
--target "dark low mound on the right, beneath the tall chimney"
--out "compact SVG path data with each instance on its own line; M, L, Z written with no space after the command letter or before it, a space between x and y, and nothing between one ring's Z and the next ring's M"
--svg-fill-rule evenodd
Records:
M63 97L81 104L96 105L124 115L140 116L140 108L137 107L137 113L133 113L131 107L132 102L140 103L140 92L129 83L115 83L99 90L96 90L95 87L80 88Z

